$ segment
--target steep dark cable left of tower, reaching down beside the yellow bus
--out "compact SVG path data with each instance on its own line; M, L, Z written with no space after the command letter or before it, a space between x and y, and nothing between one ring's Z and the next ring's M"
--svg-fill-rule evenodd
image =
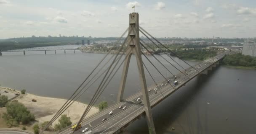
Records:
M126 38L126 39L127 39L127 38ZM105 78L107 77L107 75L108 75L108 73L109 73L109 70L112 68L112 65L114 64L115 59L117 58L118 54L120 53L120 51L121 51L121 49L123 48L123 46L124 46L125 43L126 43L126 41L124 41L124 43L122 44L122 46L120 46L120 48L117 50L117 53L115 54L114 60L113 60L112 63L110 64L110 67L109 67L109 69L107 70L106 74L104 75L103 79L101 80L101 83L99 84L99 87L97 88L95 94L93 95L92 100L90 101L90 103L89 103L88 106L86 107L86 109L85 109L85 111L84 111L82 117L81 117L80 120L78 121L77 126L79 126L78 124L81 123L81 121L82 121L83 118L85 117L85 114L91 109L90 107L92 107L93 101L95 100L96 96L99 94L100 89L102 89L102 88L101 88L102 83L104 82ZM123 54L124 54L124 52L123 52ZM118 62L117 62L117 63L118 63ZM104 83L105 83L105 82L104 82ZM77 129L77 126L76 126L75 129ZM74 131L74 132L75 132L75 131ZM74 132L73 132L73 133L74 133ZM73 134L73 133L72 133L72 134Z

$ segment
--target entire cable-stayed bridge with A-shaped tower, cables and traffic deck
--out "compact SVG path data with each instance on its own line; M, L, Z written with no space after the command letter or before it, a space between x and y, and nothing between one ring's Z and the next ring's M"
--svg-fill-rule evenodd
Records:
M99 64L96 65L96 67L85 78L83 83L75 90L67 102L61 107L56 115L53 116L53 119L51 119L51 121L45 126L43 131L50 124L52 124L53 121L58 119L58 117L61 116L61 114L70 105L72 105L74 101L83 95L83 93L85 93L87 90L90 90L91 85L99 80L100 84L97 85L98 88L96 89L91 101L88 103L88 106L85 108L85 111L80 120L75 123L77 124L75 128L71 129L69 127L63 131L60 131L59 134L83 134L83 130L86 130L87 132L93 132L93 134L118 134L120 131L125 129L125 127L127 127L133 121L140 119L142 116L147 119L149 133L156 134L151 108L184 86L197 75L207 75L208 71L212 70L213 67L218 66L219 61L224 57L224 54L218 54L216 57L211 57L192 67L186 61L179 58L179 56L168 49L165 45L160 43L160 41L155 39L146 30L139 27L138 13L131 13L129 15L129 28L123 33L120 39L127 33L127 31L128 35L123 44L117 49L117 52L112 54L112 56L107 59L106 57L111 52L109 51L109 53L106 54L103 59L101 59ZM139 33L142 33L144 36L146 36L147 39L157 47L157 49L161 50L168 56L168 58L165 58L160 55L161 58L168 62L168 67L173 67L176 69L176 71L179 72L178 74L168 70L167 65L164 65L162 62L160 62L159 59L157 59L157 57L153 55L152 51L155 52L155 50L139 38ZM147 52L151 54L150 56L155 58L158 66L161 65L163 68L165 68L166 72L170 73L171 76L165 77L163 73L157 68L157 66L143 52L141 52L141 48L146 49ZM170 56L170 53L181 59L182 62L187 64L189 67L184 67L176 62L173 57ZM136 58L142 89L141 92L124 99L123 93L125 90L125 82L132 54L134 54ZM142 56L147 60L142 61ZM103 61L105 61L105 64ZM163 77L163 81L155 81L154 77L151 75L152 72L148 70L148 67L144 64L144 62L149 62L152 67L155 68L155 71ZM172 64L173 62L176 64ZM123 73L120 82L120 88L117 93L117 103L99 113L85 118L88 111L90 111L91 107L94 106L96 101L101 96L101 93L107 88L109 82L112 80L122 65ZM147 87L144 70L146 70L146 72L150 75L155 85ZM41 133L43 133L43 131L41 131Z

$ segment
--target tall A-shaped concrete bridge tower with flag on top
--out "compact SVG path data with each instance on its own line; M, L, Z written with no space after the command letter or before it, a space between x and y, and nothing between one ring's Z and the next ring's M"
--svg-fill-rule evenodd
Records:
M126 57L124 66L123 66L123 73L122 73L122 79L119 87L119 92L117 95L117 102L120 102L123 99L123 93L125 89L125 82L127 78L130 59L131 59L131 55L134 54L136 57L137 65L138 65L139 79L141 81L141 88L142 88L141 92L142 92L143 103L144 103L144 108L146 112L147 125L149 127L149 131L151 131L152 134L156 134L153 117L152 117L151 106L149 102L149 95L147 91L147 83L146 83L144 68L143 68L142 59L141 59L141 47L139 44L139 13L131 13L129 15L128 31L129 31L128 32L129 35L126 40L128 43L127 44L128 48L125 51L125 54L128 54L128 56Z

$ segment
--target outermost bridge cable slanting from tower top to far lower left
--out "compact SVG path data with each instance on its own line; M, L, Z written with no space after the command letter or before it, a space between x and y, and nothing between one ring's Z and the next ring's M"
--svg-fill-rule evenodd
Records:
M120 36L120 38L118 39L117 42L119 42L122 37L125 35L125 33L127 33L128 28L125 30L125 32L122 34L122 36ZM126 38L127 39L127 38ZM123 47L123 46L122 46ZM43 128L43 130L40 132L40 134L43 133L43 131L45 131L45 129L47 129L52 123L53 123L53 119L56 118L56 116L60 115L59 113L61 113L61 109L64 109L64 106L67 106L67 103L70 103L70 99L75 95L75 93L82 87L82 85L85 83L86 80L88 80L88 78L93 74L93 72L97 69L97 67L99 67L99 65L104 61L104 59L108 56L108 54L115 48L115 46L113 46L109 52L101 59L101 61L96 65L96 67L93 69L93 71L91 71L91 73L85 78L85 80L82 82L82 84L79 85L79 87L75 90L75 92L71 95L71 97L64 103L64 105L59 109L59 111L53 116L53 118L51 119L51 121L49 121L49 123ZM73 98L74 99L74 98ZM67 104L67 105L66 105Z

